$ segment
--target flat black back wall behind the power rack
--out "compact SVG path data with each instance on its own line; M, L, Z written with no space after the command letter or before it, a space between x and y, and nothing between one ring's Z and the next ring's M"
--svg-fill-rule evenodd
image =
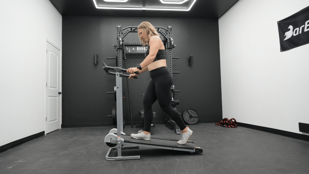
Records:
M107 75L101 61L116 66L112 45L116 44L116 26L138 26L148 21L154 26L172 25L172 49L175 99L180 100L177 110L183 113L193 108L199 113L199 122L216 122L222 119L220 76L220 51L218 20L168 19L168 18L120 18L120 17L62 17L62 127L112 125L112 107L116 107L113 94L115 76ZM138 42L137 33L129 33L125 42ZM99 55L95 65L94 54ZM188 58L193 55L193 65ZM136 67L144 55L127 56L127 68ZM124 68L124 67L123 67ZM138 115L143 110L143 94L151 80L149 72L128 79L134 124L141 124ZM126 79L123 89L127 97ZM130 124L129 101L123 99L123 111L127 125ZM154 124L163 124L164 112L158 102L153 105L157 113Z

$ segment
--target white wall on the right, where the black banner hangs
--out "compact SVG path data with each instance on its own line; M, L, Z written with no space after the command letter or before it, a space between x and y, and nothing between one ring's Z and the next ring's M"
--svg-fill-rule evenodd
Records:
M309 44L280 52L277 27L307 6L240 0L219 19L223 118L294 133L309 123Z

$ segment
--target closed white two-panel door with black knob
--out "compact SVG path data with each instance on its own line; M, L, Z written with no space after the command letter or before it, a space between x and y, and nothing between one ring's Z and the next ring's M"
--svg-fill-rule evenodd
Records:
M60 128L60 50L46 42L45 133Z

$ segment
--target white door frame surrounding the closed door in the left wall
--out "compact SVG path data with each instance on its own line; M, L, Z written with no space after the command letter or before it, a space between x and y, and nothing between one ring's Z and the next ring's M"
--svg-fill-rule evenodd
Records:
M47 83L47 81L46 81L46 49L47 49L47 42L48 43L50 43L52 46L54 46L54 47L56 47L58 50L60 50L60 67L59 67L59 74L60 74L60 82L59 82L59 90L60 90L60 92L61 92L61 90L62 90L62 49L59 47L59 46L57 46L56 44L54 44L52 41L50 41L49 39L47 39L47 38L45 38L45 50L44 50L44 54L45 54L45 56L44 56L44 58L45 58L45 64L44 64L44 70L45 70L45 77L44 77L44 81L45 81L45 83L44 83L44 133L45 133L45 135L46 135L46 120L45 120L45 117L46 117L46 115L45 115L45 113L46 113L46 83ZM60 120L59 120L59 129L61 129L61 124L62 124L62 94L59 96L59 99L60 99Z

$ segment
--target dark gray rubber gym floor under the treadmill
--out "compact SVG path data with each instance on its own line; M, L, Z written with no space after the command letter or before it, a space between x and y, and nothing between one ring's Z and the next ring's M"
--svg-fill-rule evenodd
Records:
M113 127L63 128L0 154L0 173L309 173L309 142L214 123L189 127L202 154L140 147L123 151L140 160L107 161L104 137ZM138 130L126 126L125 133ZM152 133L180 137L165 125Z

